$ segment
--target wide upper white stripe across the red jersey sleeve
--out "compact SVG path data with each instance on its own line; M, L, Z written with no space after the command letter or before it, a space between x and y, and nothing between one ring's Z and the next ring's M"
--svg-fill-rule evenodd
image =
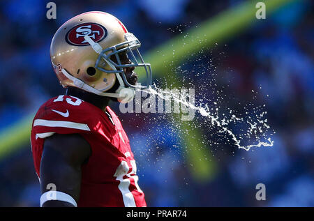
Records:
M91 131L89 129L89 126L84 123L75 123L70 121L48 121L43 119L36 119L33 122L33 126L45 126L45 127L59 127L59 128L73 128L78 130L87 130Z

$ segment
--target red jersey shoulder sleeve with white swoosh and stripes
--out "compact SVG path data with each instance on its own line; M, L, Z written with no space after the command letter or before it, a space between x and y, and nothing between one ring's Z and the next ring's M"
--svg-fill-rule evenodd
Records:
M46 102L33 119L35 139L59 134L88 133L94 122L92 109L84 101L71 96L59 96Z

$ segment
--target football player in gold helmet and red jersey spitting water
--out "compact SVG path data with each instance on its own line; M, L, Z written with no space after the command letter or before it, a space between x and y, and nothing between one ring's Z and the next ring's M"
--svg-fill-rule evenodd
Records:
M136 67L151 84L138 47L124 24L103 12L77 15L54 34L52 66L66 93L45 102L33 119L40 206L147 206L128 137L108 107L145 88Z

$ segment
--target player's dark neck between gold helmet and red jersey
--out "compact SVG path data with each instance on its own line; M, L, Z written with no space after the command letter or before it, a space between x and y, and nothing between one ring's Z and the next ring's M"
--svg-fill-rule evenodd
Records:
M98 96L94 93L89 93L87 91L83 91L81 89L76 89L74 87L68 87L66 89L66 95L80 98L80 99L84 100L85 102L89 102L92 105L99 107L102 110L105 110L105 108L107 107L109 100L110 100L110 98Z

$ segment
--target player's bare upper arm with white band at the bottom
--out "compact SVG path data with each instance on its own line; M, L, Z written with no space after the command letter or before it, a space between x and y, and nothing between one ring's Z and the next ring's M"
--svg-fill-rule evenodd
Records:
M40 162L42 206L75 206L70 201L77 203L80 198L81 167L90 155L89 143L79 134L45 138ZM57 192L47 192L54 185Z

